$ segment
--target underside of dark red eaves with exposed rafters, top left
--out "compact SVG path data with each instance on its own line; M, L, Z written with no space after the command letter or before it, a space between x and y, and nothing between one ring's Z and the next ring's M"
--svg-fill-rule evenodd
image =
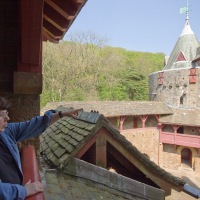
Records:
M43 41L58 43L87 0L44 0Z

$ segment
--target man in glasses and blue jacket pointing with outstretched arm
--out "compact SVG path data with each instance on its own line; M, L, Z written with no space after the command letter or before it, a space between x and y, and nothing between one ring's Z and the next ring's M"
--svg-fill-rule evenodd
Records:
M43 191L40 182L28 181L23 185L23 174L17 142L36 137L50 124L68 116L76 117L82 109L68 112L47 111L26 122L8 123L8 101L0 97L0 199L23 200Z

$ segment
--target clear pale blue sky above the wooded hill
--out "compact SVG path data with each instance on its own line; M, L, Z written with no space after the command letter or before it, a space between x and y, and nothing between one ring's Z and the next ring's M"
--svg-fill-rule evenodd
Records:
M91 32L106 45L170 55L184 28L187 0L88 0L66 33ZM189 0L190 26L200 41L200 0Z

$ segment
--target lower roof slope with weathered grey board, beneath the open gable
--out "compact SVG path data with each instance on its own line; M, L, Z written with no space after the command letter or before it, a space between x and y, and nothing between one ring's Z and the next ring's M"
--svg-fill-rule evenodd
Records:
M164 191L72 158L65 173L46 170L49 200L142 200L164 199Z

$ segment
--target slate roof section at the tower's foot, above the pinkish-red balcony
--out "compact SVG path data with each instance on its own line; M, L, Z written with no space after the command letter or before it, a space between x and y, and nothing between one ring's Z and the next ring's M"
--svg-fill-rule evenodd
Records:
M200 127L200 109L171 109L174 114L161 116L159 119L161 123Z

